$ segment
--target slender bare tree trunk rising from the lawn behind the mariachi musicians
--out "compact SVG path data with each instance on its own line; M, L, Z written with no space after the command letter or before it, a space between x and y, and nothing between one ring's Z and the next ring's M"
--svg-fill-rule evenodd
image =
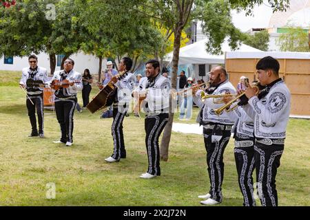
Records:
M180 54L180 39L182 28L176 27L174 32L174 56L172 58L172 88L176 89L176 74L178 73L178 58ZM172 99L169 97L169 120L165 126L163 132L163 138L161 139L161 159L163 161L168 160L169 142L172 132L172 123L174 121L174 113L172 111Z

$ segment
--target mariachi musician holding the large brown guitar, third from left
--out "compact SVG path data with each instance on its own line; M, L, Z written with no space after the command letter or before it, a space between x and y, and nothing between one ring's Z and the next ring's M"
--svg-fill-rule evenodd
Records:
M108 98L113 102L112 137L114 142L112 155L105 158L105 161L109 163L119 162L121 158L126 158L123 120L130 106L135 81L134 74L130 73L130 69L132 69L132 59L128 57L122 58L118 63L119 74L116 75L118 80L114 84L116 88Z

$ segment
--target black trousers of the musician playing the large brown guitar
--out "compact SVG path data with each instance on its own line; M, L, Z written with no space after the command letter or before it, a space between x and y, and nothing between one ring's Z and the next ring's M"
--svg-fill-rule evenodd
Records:
M126 149L123 135L123 120L127 113L126 105L118 109L113 108L113 123L112 123L112 137L114 142L113 154L114 159L126 158Z

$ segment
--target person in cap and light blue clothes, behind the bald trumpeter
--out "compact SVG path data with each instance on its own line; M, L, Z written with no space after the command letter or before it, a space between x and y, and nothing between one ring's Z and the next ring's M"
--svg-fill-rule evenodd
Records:
M192 97L192 87L194 80L192 77L187 78L187 83L184 87L187 91L182 93L183 100L180 107L180 120L185 119L185 110L186 110L186 119L189 120L192 118L192 108L193 108L193 97Z

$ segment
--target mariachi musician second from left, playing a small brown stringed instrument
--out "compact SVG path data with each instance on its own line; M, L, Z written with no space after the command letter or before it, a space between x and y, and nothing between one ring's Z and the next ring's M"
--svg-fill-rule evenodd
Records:
M74 61L67 58L63 70L54 72L50 87L55 89L56 118L61 127L61 139L54 141L55 144L72 146L73 143L73 115L76 107L77 91L83 89L82 75L75 72Z

